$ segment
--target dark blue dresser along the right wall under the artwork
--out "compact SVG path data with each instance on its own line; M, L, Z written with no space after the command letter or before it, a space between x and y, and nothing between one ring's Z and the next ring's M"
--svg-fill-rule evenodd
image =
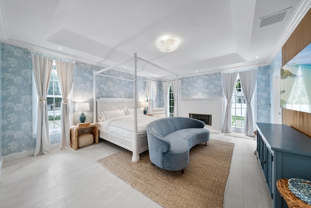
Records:
M276 188L278 179L311 181L311 138L282 124L256 123L257 156L274 208L287 208Z

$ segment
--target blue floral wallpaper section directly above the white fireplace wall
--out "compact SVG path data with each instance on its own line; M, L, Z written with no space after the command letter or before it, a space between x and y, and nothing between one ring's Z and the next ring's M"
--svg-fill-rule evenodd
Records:
M181 98L223 97L220 73L184 77L181 80Z

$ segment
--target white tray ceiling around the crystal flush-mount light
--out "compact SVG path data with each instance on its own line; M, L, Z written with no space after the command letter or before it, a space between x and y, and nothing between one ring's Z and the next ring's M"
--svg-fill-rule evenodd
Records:
M311 0L0 0L0 7L3 43L103 67L137 53L182 77L269 65ZM288 8L283 21L258 26ZM156 48L165 35L179 38L175 51ZM138 75L171 73L138 61Z

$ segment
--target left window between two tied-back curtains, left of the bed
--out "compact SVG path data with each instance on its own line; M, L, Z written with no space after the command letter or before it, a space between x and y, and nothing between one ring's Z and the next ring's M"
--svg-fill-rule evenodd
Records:
M50 87L47 96L48 115L49 115L49 128L60 127L60 107L62 104L62 96L60 94L58 78L56 74L56 67L53 64Z

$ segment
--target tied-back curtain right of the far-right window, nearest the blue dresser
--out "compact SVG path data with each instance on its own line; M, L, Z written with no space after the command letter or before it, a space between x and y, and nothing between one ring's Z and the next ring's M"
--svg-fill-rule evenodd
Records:
M244 120L244 134L248 136L255 135L251 100L255 91L257 73L258 73L257 69L239 72L244 99L247 103Z

